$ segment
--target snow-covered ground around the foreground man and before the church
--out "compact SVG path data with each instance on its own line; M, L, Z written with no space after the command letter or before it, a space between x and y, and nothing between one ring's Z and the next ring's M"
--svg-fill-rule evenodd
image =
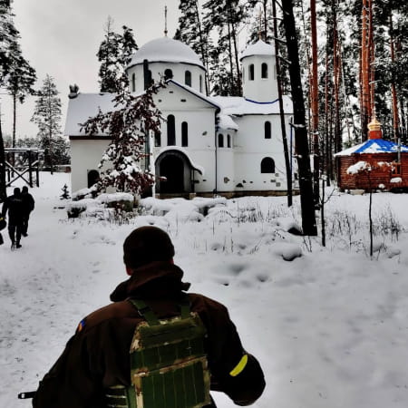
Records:
M294 209L286 198L147 199L145 215L119 225L67 219L64 183L67 174L42 174L32 189L23 248L12 252L3 231L0 407L31 406L17 393L35 390L83 316L109 302L126 278L123 239L146 224L170 233L191 290L228 306L266 374L257 408L408 406L406 195L374 195L379 250L370 259L366 195L335 192L323 248L287 232L300 223L298 197ZM204 207L213 207L205 217Z

